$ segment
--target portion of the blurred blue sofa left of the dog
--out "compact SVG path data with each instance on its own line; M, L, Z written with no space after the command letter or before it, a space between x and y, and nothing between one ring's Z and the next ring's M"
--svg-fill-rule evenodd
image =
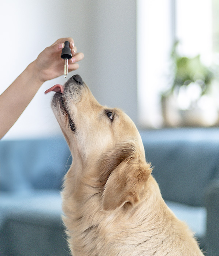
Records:
M67 256L60 189L64 138L0 141L0 255Z

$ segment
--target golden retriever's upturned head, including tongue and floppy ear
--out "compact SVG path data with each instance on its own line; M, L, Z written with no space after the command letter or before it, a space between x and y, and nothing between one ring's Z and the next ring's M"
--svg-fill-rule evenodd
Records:
M52 109L73 161L98 171L103 209L140 202L151 168L132 120L118 108L100 105L79 75L51 90L56 91Z

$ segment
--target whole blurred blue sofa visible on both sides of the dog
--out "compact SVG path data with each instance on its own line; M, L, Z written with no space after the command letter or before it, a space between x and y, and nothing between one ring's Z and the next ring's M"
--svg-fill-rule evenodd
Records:
M219 255L219 128L140 131L168 206ZM63 137L0 141L0 255L67 256L60 189L71 164Z

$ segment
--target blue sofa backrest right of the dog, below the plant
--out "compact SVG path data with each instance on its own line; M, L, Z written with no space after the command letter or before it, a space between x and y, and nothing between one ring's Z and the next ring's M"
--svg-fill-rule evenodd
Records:
M162 129L140 134L163 198L203 206L206 185L219 175L219 129Z

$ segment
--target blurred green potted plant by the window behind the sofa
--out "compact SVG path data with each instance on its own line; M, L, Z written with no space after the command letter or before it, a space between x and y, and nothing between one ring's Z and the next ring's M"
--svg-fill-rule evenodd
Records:
M214 74L200 55L181 56L175 43L171 59L174 76L170 88L162 93L165 126L211 126L218 120L218 110L211 99Z

